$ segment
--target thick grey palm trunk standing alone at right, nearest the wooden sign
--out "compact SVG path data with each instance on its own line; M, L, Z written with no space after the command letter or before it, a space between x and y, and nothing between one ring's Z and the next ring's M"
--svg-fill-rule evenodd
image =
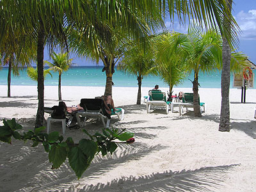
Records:
M232 0L226 0L228 9L232 9ZM230 26L228 26L230 29ZM230 131L230 108L229 108L229 86L230 86L230 58L231 50L227 39L223 36L222 45L222 72L221 72L221 111L219 131Z

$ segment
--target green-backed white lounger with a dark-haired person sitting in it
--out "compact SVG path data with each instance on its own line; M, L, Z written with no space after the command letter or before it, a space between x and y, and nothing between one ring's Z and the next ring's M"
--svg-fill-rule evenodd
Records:
M156 109L156 107L165 108L166 114L168 114L169 104L171 102L166 101L166 93L161 91L159 92L159 91L150 90L148 92L148 95L150 97L150 100L148 100L148 102L146 103L147 113L149 113L150 106L154 106L154 109Z

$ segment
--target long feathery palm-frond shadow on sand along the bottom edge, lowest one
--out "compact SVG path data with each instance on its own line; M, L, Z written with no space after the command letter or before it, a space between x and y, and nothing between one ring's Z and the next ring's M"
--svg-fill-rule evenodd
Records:
M86 185L83 189L76 189L75 186L72 186L68 188L68 191L214 191L214 189L225 186L225 179L232 173L235 166L237 164L209 166L198 170L182 170L181 172L166 170L163 173L151 173L140 177L122 177L112 180L108 184Z

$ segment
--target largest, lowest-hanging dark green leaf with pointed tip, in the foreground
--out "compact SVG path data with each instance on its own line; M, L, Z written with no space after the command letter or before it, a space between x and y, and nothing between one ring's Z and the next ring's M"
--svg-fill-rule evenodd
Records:
M89 164L87 163L88 159L83 153L81 148L72 147L68 152L68 162L71 168L76 172L78 179L83 175L83 172L88 168Z

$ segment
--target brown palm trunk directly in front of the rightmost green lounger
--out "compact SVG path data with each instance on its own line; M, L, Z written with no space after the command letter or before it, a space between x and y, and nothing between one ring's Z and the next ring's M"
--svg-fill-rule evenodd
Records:
M193 81L193 108L195 116L201 117L200 105L198 102L198 73L195 72Z

